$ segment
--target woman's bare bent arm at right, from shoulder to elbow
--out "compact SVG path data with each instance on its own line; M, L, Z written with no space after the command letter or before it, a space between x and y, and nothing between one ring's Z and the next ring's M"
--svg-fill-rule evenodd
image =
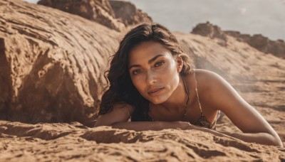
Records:
M202 82L203 84L200 84L200 86L207 86L207 92L203 93L203 97L201 97L203 103L207 107L224 112L233 124L243 132L229 133L221 131L222 133L247 142L283 146L276 131L256 109L240 97L226 80L207 70L199 70L199 73L203 76L203 79L199 80L198 83ZM203 82L203 80L207 81Z

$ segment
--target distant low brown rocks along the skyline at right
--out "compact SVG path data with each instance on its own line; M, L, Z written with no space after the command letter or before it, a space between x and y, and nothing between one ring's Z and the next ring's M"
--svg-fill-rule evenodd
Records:
M222 31L221 28L209 22L199 23L192 29L191 33L207 36L209 38L219 38L224 41L224 43L227 42L227 36L232 36L236 38L237 41L248 43L262 53L272 53L277 57L285 58L285 42L283 40L271 41L261 34L250 36L249 34L242 34L239 31Z

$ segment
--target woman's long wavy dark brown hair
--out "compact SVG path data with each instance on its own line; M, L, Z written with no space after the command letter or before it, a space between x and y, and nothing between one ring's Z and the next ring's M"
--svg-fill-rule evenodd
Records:
M187 75L193 67L193 61L180 46L177 38L159 23L142 23L129 31L110 61L110 69L105 71L105 79L108 82L100 102L99 115L112 111L114 104L130 104L134 108L131 114L132 121L149 120L147 99L142 97L133 85L128 70L128 55L136 45L145 41L161 43L171 51L172 56L180 55L183 67L180 75Z

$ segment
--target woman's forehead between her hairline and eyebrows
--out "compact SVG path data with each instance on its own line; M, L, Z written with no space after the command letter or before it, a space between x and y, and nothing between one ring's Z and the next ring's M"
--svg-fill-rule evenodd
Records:
M129 65L144 63L156 55L172 57L171 51L165 48L165 46L161 43L157 43L155 41L145 41L136 45L132 50L130 50L128 62Z

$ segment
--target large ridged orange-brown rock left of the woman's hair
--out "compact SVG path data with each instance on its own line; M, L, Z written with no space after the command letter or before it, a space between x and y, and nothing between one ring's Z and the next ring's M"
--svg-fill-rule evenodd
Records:
M119 33L46 6L0 1L0 117L90 124Z

